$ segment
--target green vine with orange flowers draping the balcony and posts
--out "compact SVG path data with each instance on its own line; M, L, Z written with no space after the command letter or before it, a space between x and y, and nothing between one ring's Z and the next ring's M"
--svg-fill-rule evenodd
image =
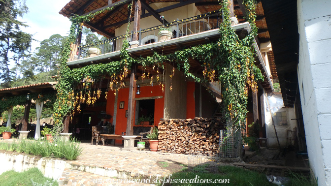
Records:
M70 69L66 62L70 55L70 44L75 40L76 25L87 22L101 12L112 10L113 7L100 10L94 14L86 16L72 16L70 18L72 24L68 41L61 53L61 64L59 71L59 82L57 84L57 101L54 104L54 125L57 132L63 130L63 119L65 116L73 115L75 110L80 111L80 104L95 102L96 95L91 91L93 83L98 79L102 79L105 75L110 77L108 88L110 90L118 90L124 86L124 79L128 75L128 69L131 69L132 64L139 64L148 67L153 65L153 69L157 69L156 79L160 84L160 70L164 72L163 62L171 62L177 69L184 72L186 77L194 79L198 83L219 80L222 84L222 97L224 112L230 127L238 128L246 117L247 113L247 94L248 90L256 90L256 82L263 80L260 69L254 65L255 50L252 47L255 36L257 35L257 27L255 25L255 0L244 0L246 6L246 20L250 23L252 31L243 39L239 39L235 31L231 27L229 17L228 1L221 0L223 11L223 23L220 25L220 39L218 42L203 44L191 48L176 51L169 55L158 54L155 52L152 56L146 58L132 58L127 52L129 42L127 39L123 41L121 49L121 60L103 64L91 64L82 68ZM132 12L132 4L128 6ZM129 25L127 34L129 34ZM203 76L198 76L190 71L189 59L197 59L202 62ZM174 68L170 73L173 75ZM164 78L164 76L163 76ZM142 79L150 79L153 84L153 76L146 74L142 75ZM160 82L159 82L160 81ZM81 85L79 87L78 85ZM164 84L161 85L164 90ZM78 87L78 88L77 88ZM170 88L171 89L171 88ZM107 93L107 92L106 92ZM115 91L116 93L116 91ZM99 98L100 92L97 93ZM92 96L92 97L91 97ZM107 96L107 94L106 94ZM109 95L108 95L109 96ZM92 103L93 104L93 103Z

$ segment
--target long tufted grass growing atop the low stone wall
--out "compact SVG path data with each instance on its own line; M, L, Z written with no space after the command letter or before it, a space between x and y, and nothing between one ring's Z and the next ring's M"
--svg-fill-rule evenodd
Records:
M16 151L30 155L40 155L42 157L57 157L68 160L76 160L81 155L83 149L80 142L76 140L64 141L55 139L54 142L41 140L22 140L19 143L0 142L0 150Z

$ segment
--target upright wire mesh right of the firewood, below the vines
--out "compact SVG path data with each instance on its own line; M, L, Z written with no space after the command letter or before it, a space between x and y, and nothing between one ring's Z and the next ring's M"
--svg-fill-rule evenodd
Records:
M242 152L240 130L220 131L220 156L222 158L236 158Z

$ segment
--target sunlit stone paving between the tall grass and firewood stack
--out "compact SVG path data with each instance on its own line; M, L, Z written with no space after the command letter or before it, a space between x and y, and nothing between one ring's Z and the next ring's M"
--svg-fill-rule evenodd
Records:
M81 147L84 148L82 155L75 161L69 161L71 164L115 169L130 173L133 177L167 176L172 173L172 171L159 166L158 161L188 164L188 155L158 153L149 150L125 151L117 146L96 146L86 143L82 143Z

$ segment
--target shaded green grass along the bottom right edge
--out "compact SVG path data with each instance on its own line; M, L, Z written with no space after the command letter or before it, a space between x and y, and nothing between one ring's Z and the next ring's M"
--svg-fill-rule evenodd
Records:
M192 182L195 183L171 183L165 184L166 186L219 186L222 185L222 180L227 186L275 186L266 179L264 174L234 166L219 166L219 174L197 173L190 170L183 170L172 174L170 179L172 179L172 181L177 179L179 182L188 179L188 182L192 180ZM217 181L217 183L213 183L214 181ZM285 186L317 185L312 184L307 179L297 176L297 180L292 177L292 182Z

